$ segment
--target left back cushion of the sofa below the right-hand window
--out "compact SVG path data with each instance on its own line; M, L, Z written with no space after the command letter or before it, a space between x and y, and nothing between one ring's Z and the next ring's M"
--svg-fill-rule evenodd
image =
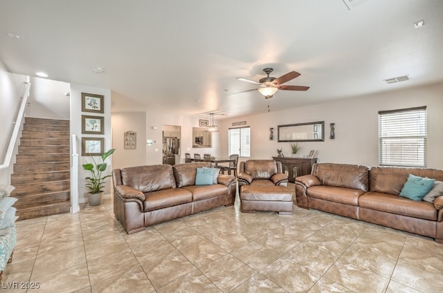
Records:
M368 191L369 167L355 164L314 164L313 175L323 185Z

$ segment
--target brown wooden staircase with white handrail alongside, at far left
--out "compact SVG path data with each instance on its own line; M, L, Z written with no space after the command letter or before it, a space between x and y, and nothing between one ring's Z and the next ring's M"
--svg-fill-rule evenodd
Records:
M25 118L11 185L19 220L68 213L69 120Z

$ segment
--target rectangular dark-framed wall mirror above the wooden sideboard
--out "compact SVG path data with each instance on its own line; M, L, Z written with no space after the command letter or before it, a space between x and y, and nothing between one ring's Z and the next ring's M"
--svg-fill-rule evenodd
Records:
M325 122L278 125L278 142L323 142Z

